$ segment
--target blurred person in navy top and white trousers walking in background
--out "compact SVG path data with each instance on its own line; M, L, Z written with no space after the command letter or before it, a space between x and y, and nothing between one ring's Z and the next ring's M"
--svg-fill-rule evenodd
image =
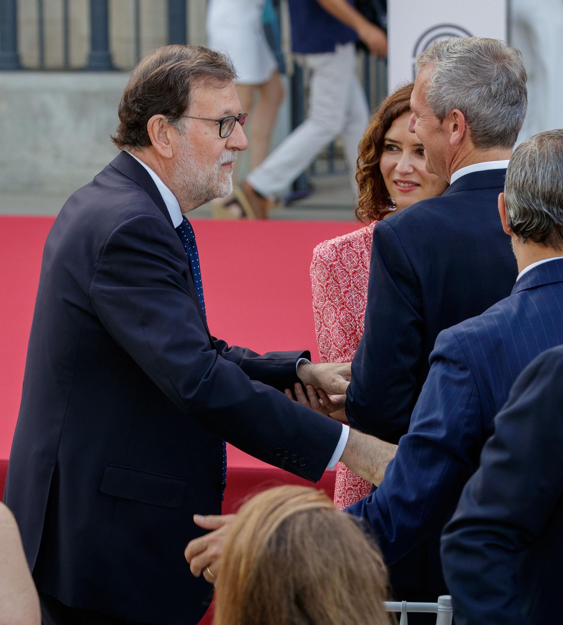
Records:
M307 119L243 182L246 214L268 216L268 197L284 191L334 139L341 136L348 169L356 170L358 143L369 118L356 76L356 41L384 56L387 38L348 0L289 0L291 45L311 69ZM356 192L356 185L353 184Z

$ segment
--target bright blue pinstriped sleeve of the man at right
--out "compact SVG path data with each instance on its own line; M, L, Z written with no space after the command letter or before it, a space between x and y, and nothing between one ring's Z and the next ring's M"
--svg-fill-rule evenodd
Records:
M439 334L431 362L409 431L383 481L346 509L369 522L387 564L448 520L482 446L479 396L450 330Z

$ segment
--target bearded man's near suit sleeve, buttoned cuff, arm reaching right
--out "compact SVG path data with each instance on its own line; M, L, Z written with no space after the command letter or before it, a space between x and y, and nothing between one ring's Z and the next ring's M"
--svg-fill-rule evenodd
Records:
M316 481L340 423L252 381L210 344L187 289L182 246L159 217L137 216L109 236L89 292L114 340L200 427L259 459ZM188 450L187 450L188 452Z

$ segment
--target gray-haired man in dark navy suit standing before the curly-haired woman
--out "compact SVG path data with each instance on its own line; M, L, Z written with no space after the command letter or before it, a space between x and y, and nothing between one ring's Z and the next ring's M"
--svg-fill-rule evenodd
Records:
M517 275L497 197L526 114L522 55L497 39L451 39L417 66L410 129L426 168L451 184L373 233L365 332L346 401L351 426L393 442L408 430L439 332L507 297ZM439 535L431 541L391 566L398 599L443 591Z

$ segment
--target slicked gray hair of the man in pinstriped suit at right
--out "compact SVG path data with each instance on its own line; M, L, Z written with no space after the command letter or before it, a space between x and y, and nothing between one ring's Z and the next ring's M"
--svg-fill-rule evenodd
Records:
M523 241L563 244L563 130L520 144L506 171L506 222Z

